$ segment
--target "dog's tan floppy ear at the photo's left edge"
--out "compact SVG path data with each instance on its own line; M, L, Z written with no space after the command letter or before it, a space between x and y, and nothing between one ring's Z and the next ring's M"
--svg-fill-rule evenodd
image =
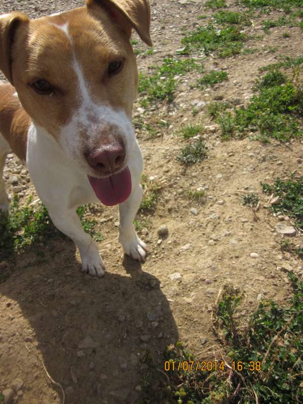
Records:
M13 84L12 77L12 45L18 26L29 22L29 18L23 13L10 13L0 16L0 70Z

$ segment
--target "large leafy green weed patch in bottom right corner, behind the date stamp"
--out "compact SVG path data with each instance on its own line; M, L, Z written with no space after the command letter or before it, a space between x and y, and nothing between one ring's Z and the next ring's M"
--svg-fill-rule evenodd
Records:
M249 318L239 315L243 293L223 287L212 324L219 353L205 354L205 365L180 341L167 347L161 366L146 351L140 404L303 402L303 283L292 273L288 277L287 302L262 301Z

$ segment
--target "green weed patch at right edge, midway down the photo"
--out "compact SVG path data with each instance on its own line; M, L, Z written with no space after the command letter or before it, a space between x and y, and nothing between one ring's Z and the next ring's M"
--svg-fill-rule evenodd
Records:
M263 192L280 197L278 203L271 205L270 209L290 217L303 231L303 176L292 173L289 179L277 178L272 185L263 182L261 185Z

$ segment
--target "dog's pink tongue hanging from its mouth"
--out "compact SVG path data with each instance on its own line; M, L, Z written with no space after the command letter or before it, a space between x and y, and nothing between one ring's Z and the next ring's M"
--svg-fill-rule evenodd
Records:
M131 176L128 167L107 178L88 176L88 180L97 198L107 206L121 204L131 193Z

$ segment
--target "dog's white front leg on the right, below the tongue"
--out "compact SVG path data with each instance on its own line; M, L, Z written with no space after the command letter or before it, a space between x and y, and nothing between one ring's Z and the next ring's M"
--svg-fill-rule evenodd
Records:
M136 185L129 198L119 205L119 242L125 254L137 261L144 261L146 244L140 240L134 229L134 219L142 200L142 187Z

